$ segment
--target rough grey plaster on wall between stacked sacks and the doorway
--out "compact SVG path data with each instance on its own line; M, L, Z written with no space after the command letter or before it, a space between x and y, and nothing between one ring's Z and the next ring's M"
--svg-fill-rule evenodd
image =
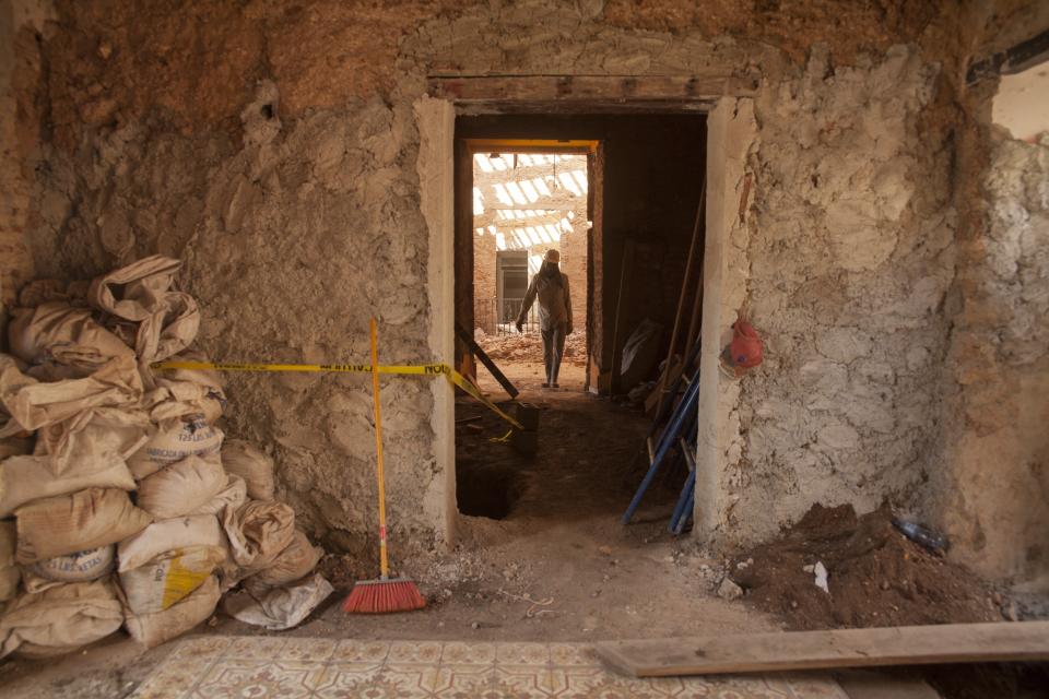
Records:
M72 156L56 151L34 238L39 272L181 257L180 279L203 312L200 344L216 358L364 362L376 313L381 362L439 359L412 102L356 100L285 122L278 98L275 84L260 83L240 112L243 145L223 132L190 139L129 123ZM367 378L228 382L227 431L269 445L304 525L334 545L363 544L349 532L374 519ZM382 388L391 519L423 546L443 534L447 497L426 382Z

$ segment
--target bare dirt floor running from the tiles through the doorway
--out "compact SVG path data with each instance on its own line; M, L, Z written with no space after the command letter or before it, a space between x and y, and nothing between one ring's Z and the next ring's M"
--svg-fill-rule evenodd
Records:
M674 538L665 524L673 484L651 493L634 523L618 517L639 477L630 463L644 441L647 419L626 405L582 392L581 367L566 365L562 388L544 390L541 364L503 367L520 399L541 407L534 459L517 455L499 437L503 426L480 405L463 400L457 419L461 477L487 473L488 484L512 476L505 519L462 517L460 541L446 555L400 561L429 600L422 612L350 616L339 603L358 578L375 571L344 556L321 562L337 592L302 626L285 633L327 638L588 641L771 630L779 625L716 590L728 561ZM506 398L483 374L482 388ZM468 428L479 424L481 429ZM679 484L680 485L680 484ZM264 635L216 612L201 633ZM142 652L116 635L59 662L0 663L2 694L14 697L122 697L169 652Z

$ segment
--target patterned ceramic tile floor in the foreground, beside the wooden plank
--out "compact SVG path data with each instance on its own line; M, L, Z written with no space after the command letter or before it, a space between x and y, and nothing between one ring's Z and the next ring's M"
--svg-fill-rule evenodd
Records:
M616 675L582 643L203 637L177 643L135 699L847 699L817 675Z

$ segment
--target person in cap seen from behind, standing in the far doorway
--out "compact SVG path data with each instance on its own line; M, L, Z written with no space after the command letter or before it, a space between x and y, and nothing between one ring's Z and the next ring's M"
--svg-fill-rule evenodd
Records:
M557 388L565 337L571 332L571 295L568 293L568 276L561 272L561 253L557 250L546 251L543 265L528 285L521 312L517 316L518 332L524 332L524 319L537 298L539 329L543 335L543 364L546 365L543 388Z

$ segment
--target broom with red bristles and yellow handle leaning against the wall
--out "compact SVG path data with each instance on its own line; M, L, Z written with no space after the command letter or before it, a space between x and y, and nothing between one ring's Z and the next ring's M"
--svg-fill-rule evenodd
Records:
M350 614L385 614L411 612L426 606L426 599L406 578L390 579L390 561L386 553L386 476L382 473L382 408L379 405L378 329L372 319L372 405L375 408L376 476L379 482L379 579L360 580L342 603Z

